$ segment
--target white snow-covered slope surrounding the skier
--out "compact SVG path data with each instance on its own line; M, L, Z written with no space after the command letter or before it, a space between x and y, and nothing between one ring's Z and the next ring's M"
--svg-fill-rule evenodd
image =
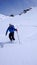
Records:
M20 44L16 32L12 43L5 35L10 23L18 29ZM37 7L15 17L0 14L0 65L37 65Z

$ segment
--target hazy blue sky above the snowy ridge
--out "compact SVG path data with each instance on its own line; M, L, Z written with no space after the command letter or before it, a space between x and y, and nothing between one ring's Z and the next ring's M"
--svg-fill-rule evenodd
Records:
M37 6L37 0L0 0L0 14L18 14L32 6Z

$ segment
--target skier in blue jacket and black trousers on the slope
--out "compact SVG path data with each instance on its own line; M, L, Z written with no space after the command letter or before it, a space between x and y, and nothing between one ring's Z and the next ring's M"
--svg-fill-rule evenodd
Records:
M9 33L9 39L10 39L11 41L12 41L12 40L15 40L15 38L14 38L14 31L17 31L17 29L14 27L14 25L9 24L9 27L8 27L7 30L6 30L6 35L7 35L8 31L10 32L10 33Z

